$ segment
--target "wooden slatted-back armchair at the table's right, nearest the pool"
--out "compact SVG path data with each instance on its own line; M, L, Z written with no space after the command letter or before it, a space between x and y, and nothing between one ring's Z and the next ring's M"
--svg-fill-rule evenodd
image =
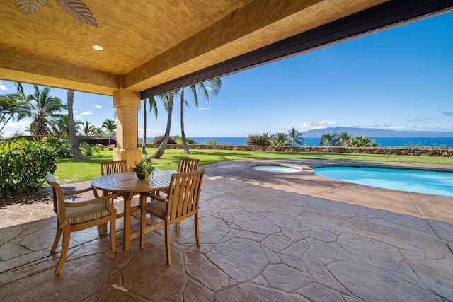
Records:
M194 216L195 239L200 246L200 233L198 230L198 207L200 204L201 183L205 170L175 173L171 177L166 197L154 194L154 192L140 195L141 219L140 219L140 248L144 248L144 235L156 228L165 226L165 251L167 264L171 265L170 253L170 225L180 223L183 219ZM151 197L151 202L147 202ZM147 213L151 218L147 219ZM156 218L161 219L152 226L147 222Z

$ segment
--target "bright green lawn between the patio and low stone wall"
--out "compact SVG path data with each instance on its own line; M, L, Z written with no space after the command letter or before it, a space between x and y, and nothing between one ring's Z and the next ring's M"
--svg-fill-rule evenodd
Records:
M156 149L147 149L148 155ZM389 156L374 154L350 153L296 153L296 152L268 152L268 151L226 151L226 150L191 150L185 154L181 149L166 149L164 156L154 159L153 163L158 170L176 170L181 156L200 159L200 166L217 163L219 161L253 160L253 159L328 159L343 161L392 161L403 163L444 163L453 165L453 158L429 156ZM72 161L71 158L62 159L57 163L55 177L65 183L93 180L101 175L99 163L112 161L113 151L102 151L97 156L87 157L85 161Z

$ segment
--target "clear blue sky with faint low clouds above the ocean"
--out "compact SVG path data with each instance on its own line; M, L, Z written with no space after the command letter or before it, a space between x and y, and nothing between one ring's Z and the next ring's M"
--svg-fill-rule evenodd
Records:
M1 79L1 74L0 74ZM25 85L25 93L31 93ZM0 94L13 93L0 80ZM52 88L67 100L67 91ZM453 12L222 77L222 90L199 107L185 92L187 137L246 137L326 127L453 132ZM175 100L171 134L180 135ZM100 126L112 98L75 92L76 118ZM166 112L148 114L147 137L164 134ZM3 135L30 121L8 123ZM139 111L139 136L142 136ZM26 132L25 132L26 133ZM453 135L453 134L452 134Z

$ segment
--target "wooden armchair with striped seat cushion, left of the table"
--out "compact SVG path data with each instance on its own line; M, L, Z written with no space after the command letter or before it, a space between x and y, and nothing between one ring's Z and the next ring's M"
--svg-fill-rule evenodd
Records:
M90 187L75 192L63 192L62 187L55 181L52 175L46 175L46 182L52 186L54 211L57 214L57 233L55 234L54 244L51 253L54 253L59 243L59 238L63 233L62 252L59 262L55 269L55 274L59 274L63 267L64 260L69 248L71 232L84 230L93 226L98 226L99 235L103 234L103 225L110 221L110 245L112 252L116 252L115 245L115 221L116 209L110 204L110 198L116 198L117 194L108 194L98 197L96 189ZM94 199L83 202L67 202L64 197L93 191Z

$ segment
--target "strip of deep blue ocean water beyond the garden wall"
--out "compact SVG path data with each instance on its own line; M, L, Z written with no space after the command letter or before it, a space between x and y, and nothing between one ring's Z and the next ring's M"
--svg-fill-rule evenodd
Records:
M216 141L217 144L230 144L245 146L247 137L190 137L197 143L202 144L208 139ZM304 137L305 146L318 146L319 137ZM453 148L453 137L371 137L376 144L382 147L398 146L447 146Z

